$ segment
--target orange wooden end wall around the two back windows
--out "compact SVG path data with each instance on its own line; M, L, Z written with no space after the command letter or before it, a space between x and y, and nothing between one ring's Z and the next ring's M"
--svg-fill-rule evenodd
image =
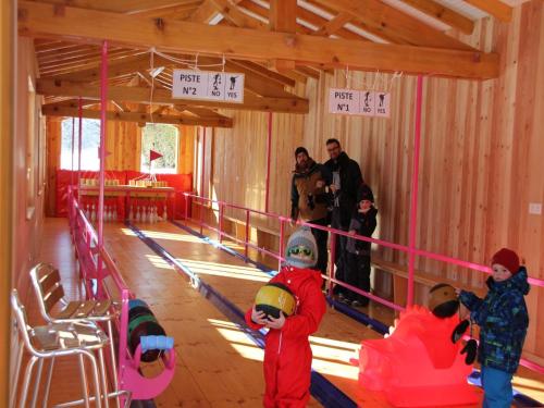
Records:
M75 128L77 138L77 122ZM46 214L54 217L57 170L61 163L61 123L62 118L47 118L47 189ZM194 166L195 126L178 126L178 173L188 174ZM106 150L111 154L106 159L106 170L140 169L141 128L136 122L109 121L107 123ZM85 137L85 135L84 135ZM77 152L75 152L77 157ZM77 166L77 159L75 159Z

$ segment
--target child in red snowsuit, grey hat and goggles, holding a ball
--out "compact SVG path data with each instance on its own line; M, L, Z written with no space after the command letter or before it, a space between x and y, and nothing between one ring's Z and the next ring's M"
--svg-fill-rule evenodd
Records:
M247 324L255 330L269 327L264 347L267 408L306 407L310 398L312 353L308 337L318 330L325 312L321 292L322 276L313 268L317 245L309 230L295 232L285 249L286 264L270 282L287 286L297 299L295 313L285 318L267 317L255 305L246 313Z

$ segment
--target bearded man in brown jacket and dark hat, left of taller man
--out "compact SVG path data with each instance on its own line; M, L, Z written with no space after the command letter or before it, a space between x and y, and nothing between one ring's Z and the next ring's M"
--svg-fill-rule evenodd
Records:
M327 195L325 186L332 183L329 170L316 163L308 154L308 150L298 147L295 150L295 171L293 172L290 189L290 218L296 221L298 217L302 221L316 225L327 224ZM317 269L326 274L326 231L311 228L318 244Z

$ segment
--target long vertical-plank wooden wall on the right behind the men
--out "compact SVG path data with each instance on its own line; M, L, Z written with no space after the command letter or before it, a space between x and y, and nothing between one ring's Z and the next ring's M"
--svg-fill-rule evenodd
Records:
M484 18L466 42L500 53L500 76L486 82L424 78L422 150L417 246L486 263L509 246L527 261L530 275L544 279L544 215L529 214L530 202L544 202L544 3L532 0L514 11L512 22ZM407 244L412 171L416 77L356 73L350 85L379 84L392 91L392 118L347 118L326 113L327 89L344 87L346 75L322 74L297 89L310 100L310 113L273 115L270 210L288 214L293 151L306 146L318 161L324 141L338 138L374 189L382 239ZM217 129L207 148L214 198L264 208L267 114L228 112L234 128ZM239 217L239 215L236 215ZM390 261L403 254L378 249ZM419 269L459 285L482 288L485 276L418 260ZM418 299L426 294L421 287ZM531 326L526 350L544 357L544 290L528 297ZM542 359L544 360L544 359ZM542 361L541 360L541 361Z

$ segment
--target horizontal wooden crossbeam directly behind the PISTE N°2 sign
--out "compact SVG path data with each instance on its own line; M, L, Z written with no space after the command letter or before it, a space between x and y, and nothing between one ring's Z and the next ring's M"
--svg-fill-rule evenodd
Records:
M109 86L108 99L114 99L124 102L150 102L150 88L147 87L126 87L126 86ZM98 99L100 97L100 88L90 86L86 83L74 83L69 81L58 79L38 79L36 84L36 92L40 95L53 95L65 97L83 97L89 99ZM208 100L191 100L191 99L173 99L172 92L165 89L153 90L153 104L188 104L195 107L213 107L220 109L238 109L254 110L268 112L287 112L287 113L308 113L309 103L307 99L301 98L264 98L256 97L247 94L244 97L244 103L231 103L221 101Z

